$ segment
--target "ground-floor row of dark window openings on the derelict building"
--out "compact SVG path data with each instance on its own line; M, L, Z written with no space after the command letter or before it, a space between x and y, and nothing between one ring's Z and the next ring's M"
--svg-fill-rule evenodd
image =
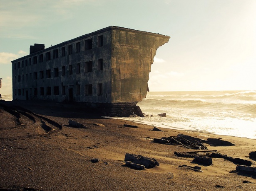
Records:
M18 95L20 96L22 94L22 96L25 95L25 90L24 89L18 89ZM30 94L32 94L32 89L30 88ZM45 88L44 87L40 87L39 88L39 94L40 95L45 95ZM81 94L81 85L76 85L76 95L80 95ZM100 96L103 94L103 87L102 87L102 83L97 84L97 95ZM17 95L16 89L15 89L15 95ZM34 88L34 96L37 96L38 92L37 92L37 87ZM51 87L46 87L46 95L52 95L52 89ZM53 95L59 95L59 86L54 86L53 87ZM65 86L62 86L62 95L66 95L66 88ZM92 95L92 84L87 84L85 85L85 95L89 96Z

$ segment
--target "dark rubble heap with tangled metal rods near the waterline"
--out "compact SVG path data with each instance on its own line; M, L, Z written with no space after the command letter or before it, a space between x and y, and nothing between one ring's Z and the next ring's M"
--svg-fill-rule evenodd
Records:
M167 133L164 134L166 135ZM184 138L184 136L162 137L161 139L154 139L154 142L168 145L182 145L189 149L207 149L207 147L204 146L203 143L200 143L199 141L194 139L188 140Z

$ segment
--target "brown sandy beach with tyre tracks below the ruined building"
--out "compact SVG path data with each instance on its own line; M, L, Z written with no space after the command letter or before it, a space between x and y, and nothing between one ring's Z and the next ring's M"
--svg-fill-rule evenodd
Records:
M31 112L32 111L32 112ZM87 128L69 126L72 119ZM138 128L125 127L124 124ZM237 164L213 158L206 166L174 152L191 152L181 145L154 143L154 138L179 133L206 140L221 138L235 146L214 146L229 157L252 162L256 140L164 129L126 120L102 118L91 109L49 102L0 102L0 191L256 190L256 177L237 173ZM159 166L138 170L125 165L126 153L152 157ZM91 159L98 158L93 163ZM196 172L180 165L199 166Z

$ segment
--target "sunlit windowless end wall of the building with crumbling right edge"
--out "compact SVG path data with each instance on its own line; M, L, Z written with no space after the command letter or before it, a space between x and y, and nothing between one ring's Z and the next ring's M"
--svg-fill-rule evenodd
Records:
M146 97L157 48L169 38L142 31L112 30L112 103L140 102Z

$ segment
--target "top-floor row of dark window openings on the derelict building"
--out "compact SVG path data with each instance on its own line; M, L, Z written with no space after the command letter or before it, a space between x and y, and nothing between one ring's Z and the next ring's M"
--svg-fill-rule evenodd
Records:
M103 46L103 36L98 36L98 47L101 47ZM80 42L77 42L76 43L76 52L80 52L80 49L81 49L81 45L80 45ZM85 40L85 50L90 50L92 49L92 39L88 39L88 40ZM73 53L73 47L72 47L72 44L70 44L68 46L68 54L72 54ZM65 56L65 46L61 48L61 56ZM51 60L51 52L47 52L45 53L45 57L46 57L46 60ZM55 58L59 58L59 50L58 49L55 49L53 50L53 59ZM43 54L40 54L39 55L39 62L43 62L44 61L44 55ZM29 65L31 65L31 58L29 58ZM25 60L25 66L27 66L27 60ZM37 64L37 56L34 56L33 57L33 64ZM17 68L23 68L24 67L24 60L21 61L21 65L20 65L20 62L17 63ZM14 69L16 70L16 64L14 65Z

